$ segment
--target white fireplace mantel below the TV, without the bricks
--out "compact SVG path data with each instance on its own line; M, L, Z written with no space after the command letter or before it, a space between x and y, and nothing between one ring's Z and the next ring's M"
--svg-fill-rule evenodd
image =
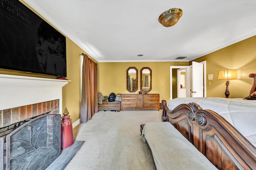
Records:
M62 87L68 82L70 80L0 74L0 110L59 99L62 113Z

